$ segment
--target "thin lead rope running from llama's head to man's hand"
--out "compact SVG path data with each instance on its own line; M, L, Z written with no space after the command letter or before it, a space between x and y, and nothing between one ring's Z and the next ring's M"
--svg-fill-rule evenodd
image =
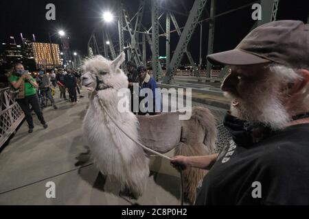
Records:
M95 96L99 99L99 103L102 107L102 109L104 110L104 112L107 114L107 116L109 118L111 118L111 120L113 121L113 123L116 125L116 127L118 129L120 129L120 131L122 131L122 133L124 133L128 138L130 138L130 140L133 140L133 142L135 142L136 144L138 144L139 146L141 146L143 149L145 149L146 151L149 151L150 153L153 153L155 155L158 155L159 157L163 157L165 159L168 159L169 161L171 160L170 157L166 156L166 155L163 155L157 151L154 151L152 149L149 149L147 146L145 146L144 144L141 144L140 142L138 142L137 140L135 140L134 138L131 138L131 136L129 136L125 131L124 129L122 129L122 127L120 127L118 125L118 123L116 122L116 120L108 113L108 111L105 109L103 103L102 103L102 100L100 99L99 95L98 95L98 92L95 92ZM181 177L181 205L183 205L183 172L182 170L179 170L180 172L180 177Z

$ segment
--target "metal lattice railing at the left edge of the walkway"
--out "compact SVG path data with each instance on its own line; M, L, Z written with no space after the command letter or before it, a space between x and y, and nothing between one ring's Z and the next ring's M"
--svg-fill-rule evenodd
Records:
M19 104L11 99L10 88L0 89L0 148L25 118Z

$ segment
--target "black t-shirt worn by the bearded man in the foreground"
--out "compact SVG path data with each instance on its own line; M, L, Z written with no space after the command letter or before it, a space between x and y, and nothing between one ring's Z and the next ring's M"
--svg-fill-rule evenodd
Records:
M231 141L198 185L196 205L309 205L309 124L249 147Z

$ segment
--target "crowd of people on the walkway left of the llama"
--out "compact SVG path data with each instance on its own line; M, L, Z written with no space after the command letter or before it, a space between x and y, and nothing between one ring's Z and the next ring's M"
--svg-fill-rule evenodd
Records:
M81 73L78 69L55 69L52 72L41 68L38 73L28 73L23 64L14 64L12 71L7 75L8 82L12 88L14 99L21 106L25 114L25 119L29 127L29 133L33 132L34 123L32 111L38 117L43 127L46 129L47 123L43 116L43 105L41 98L49 100L55 110L58 109L54 100L54 91L58 87L60 91L60 101L70 101L72 105L78 102L77 93L80 94ZM67 99L66 92L69 94ZM47 103L47 101L46 101Z

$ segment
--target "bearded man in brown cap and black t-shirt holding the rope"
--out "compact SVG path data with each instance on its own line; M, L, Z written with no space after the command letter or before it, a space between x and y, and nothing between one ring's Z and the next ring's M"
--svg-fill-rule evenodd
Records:
M267 23L207 59L231 68L221 89L233 140L220 155L172 159L210 169L196 205L309 205L309 25Z

